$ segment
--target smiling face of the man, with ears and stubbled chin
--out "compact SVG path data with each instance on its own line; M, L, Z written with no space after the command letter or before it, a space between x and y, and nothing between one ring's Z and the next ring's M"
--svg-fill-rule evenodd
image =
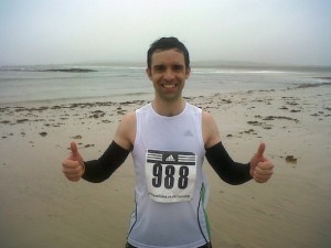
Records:
M153 83L156 97L162 100L181 98L190 68L185 67L184 55L177 50L154 52L147 75Z

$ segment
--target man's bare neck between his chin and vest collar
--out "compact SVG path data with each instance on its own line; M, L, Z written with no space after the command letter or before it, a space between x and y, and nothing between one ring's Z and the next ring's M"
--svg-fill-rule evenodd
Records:
M185 108L185 100L184 98L180 98L175 101L162 101L158 100L157 98L152 100L151 105L157 114L160 116L177 116L181 114Z

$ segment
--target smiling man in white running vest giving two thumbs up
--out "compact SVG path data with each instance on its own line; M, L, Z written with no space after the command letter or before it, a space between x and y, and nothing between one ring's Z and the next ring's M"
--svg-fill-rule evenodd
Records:
M124 117L98 160L84 162L73 142L63 173L71 181L83 177L98 183L131 152L136 194L127 247L212 247L205 214L204 157L229 184L250 179L267 182L274 165L264 157L264 143L248 164L234 162L212 115L184 100L182 90L191 68L189 52L178 39L162 37L151 44L147 63L154 99Z

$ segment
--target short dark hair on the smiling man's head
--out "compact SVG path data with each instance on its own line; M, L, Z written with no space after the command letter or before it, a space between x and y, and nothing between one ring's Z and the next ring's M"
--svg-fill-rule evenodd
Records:
M190 55L185 45L177 37L161 37L154 41L147 52L147 66L151 67L151 56L156 51L177 50L184 55L185 67L190 68Z

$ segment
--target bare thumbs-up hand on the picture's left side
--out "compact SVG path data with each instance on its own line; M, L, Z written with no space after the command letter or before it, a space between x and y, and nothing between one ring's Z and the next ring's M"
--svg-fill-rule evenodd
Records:
M62 162L62 172L70 181L77 182L81 180L84 171L84 161L78 152L77 144L72 142L71 154Z

